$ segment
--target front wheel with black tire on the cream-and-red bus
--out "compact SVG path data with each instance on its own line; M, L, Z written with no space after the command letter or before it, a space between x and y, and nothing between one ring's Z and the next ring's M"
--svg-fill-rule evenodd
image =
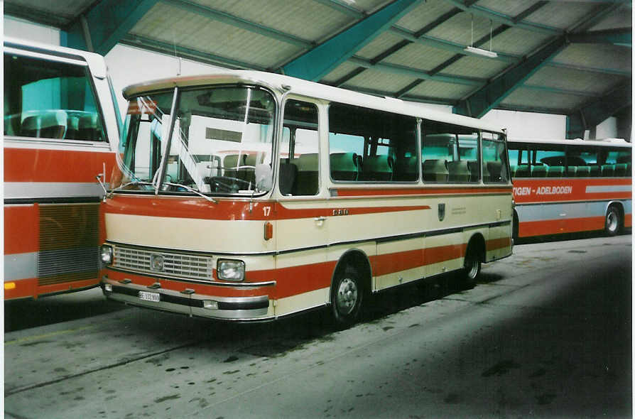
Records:
M359 274L352 267L339 270L331 287L331 312L335 327L346 329L357 321L364 300Z

